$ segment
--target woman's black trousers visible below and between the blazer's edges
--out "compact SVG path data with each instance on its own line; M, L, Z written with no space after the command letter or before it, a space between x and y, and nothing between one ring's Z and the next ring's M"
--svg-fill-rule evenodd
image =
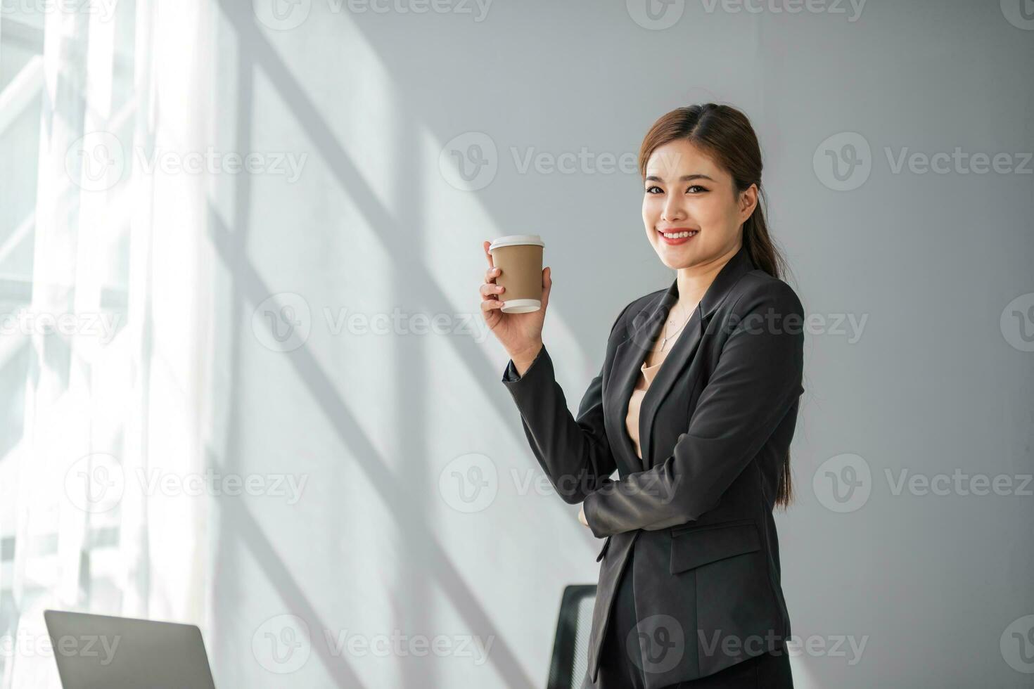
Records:
M625 566L617 585L610 624L600 654L600 675L596 689L644 689L642 669L632 661L627 640L636 626L636 603L632 594L632 560ZM690 637L693 638L692 636ZM638 653L634 648L633 653ZM588 678L585 687L590 687ZM763 653L731 667L672 684L665 689L793 689L790 657L785 651Z

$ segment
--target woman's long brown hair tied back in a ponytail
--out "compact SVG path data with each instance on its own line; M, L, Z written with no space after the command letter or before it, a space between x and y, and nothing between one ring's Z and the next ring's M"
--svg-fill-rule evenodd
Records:
M639 171L646 179L646 163L653 151L665 144L686 139L706 151L714 162L732 177L735 193L758 186L758 203L743 222L743 244L754 264L783 279L787 262L768 233L765 196L761 186L761 147L751 121L732 105L702 103L677 107L662 116L646 132L639 149ZM776 504L784 509L793 501L790 477L790 451L779 472Z

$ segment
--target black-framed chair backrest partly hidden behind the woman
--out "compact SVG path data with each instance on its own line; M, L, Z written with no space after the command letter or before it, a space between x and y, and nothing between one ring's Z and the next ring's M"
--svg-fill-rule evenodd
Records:
M588 669L588 635L595 603L596 586L572 585L564 589L547 689L582 687Z

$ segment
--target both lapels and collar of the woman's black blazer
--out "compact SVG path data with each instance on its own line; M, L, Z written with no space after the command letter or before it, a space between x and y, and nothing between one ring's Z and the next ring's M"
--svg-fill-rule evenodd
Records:
M639 445L642 450L642 460L636 455L635 444L629 436L625 419L628 415L632 390L639 376L642 375L640 367L646 361L646 354L656 344L671 307L678 302L677 277L664 293L633 317L629 326L630 336L617 346L614 353L613 382L610 386L614 397L610 406L618 411L616 414L608 415L613 417L610 432L615 433L616 437L620 439L619 445L625 456L625 462L631 471L643 471L653 466L650 459L652 451L650 436L653 418L661 403L674 386L675 381L678 380L682 370L692 361L714 310L725 300L739 278L754 268L754 263L747 253L747 245L742 245L739 251L719 271L690 320L686 323L685 332L679 333L674 344L671 345L671 351L668 352L657 376L646 388L646 394L643 396L639 408ZM692 383L692 381L683 382Z

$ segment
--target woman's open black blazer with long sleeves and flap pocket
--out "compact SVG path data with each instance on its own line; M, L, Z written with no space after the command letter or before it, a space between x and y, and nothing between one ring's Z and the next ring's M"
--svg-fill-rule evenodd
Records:
M677 299L673 281L621 311L577 417L545 347L523 376L513 361L503 376L553 487L569 503L584 501L592 533L607 538L597 558L594 683L630 559L646 689L784 649L790 635L772 505L803 393L803 308L741 247L643 397L640 460L625 426L629 398Z

